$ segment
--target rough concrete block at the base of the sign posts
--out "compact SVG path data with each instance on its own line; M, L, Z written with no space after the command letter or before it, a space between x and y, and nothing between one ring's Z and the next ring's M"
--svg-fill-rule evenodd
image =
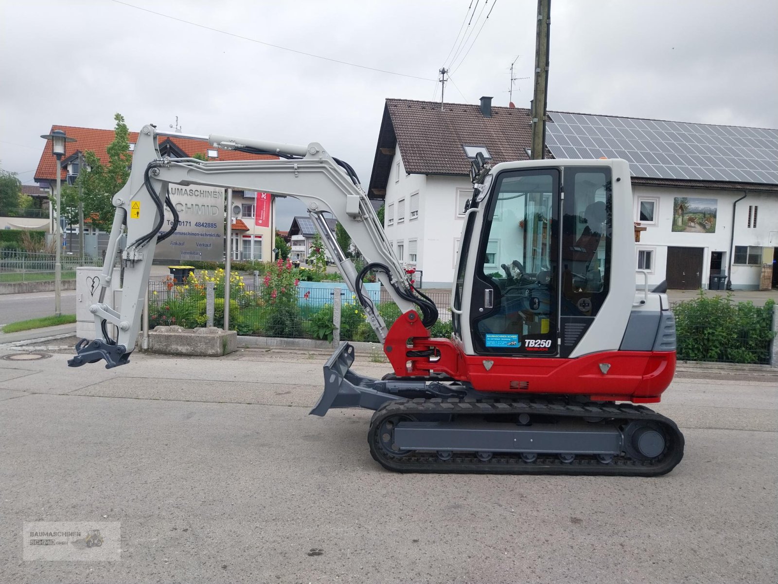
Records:
M157 326L149 331L149 352L166 355L197 355L221 357L237 350L238 333L208 327Z

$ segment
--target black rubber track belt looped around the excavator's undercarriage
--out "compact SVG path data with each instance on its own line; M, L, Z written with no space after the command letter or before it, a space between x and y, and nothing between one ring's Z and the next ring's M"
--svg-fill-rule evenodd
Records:
M562 463L558 456L538 455L534 463L525 463L518 454L496 452L488 461L481 461L475 452L455 452L448 460L441 460L435 452L412 452L394 456L380 445L379 429L387 418L407 415L482 416L528 413L556 418L603 417L605 420L652 421L661 424L665 434L665 449L651 461L615 457L612 463L600 463L594 457L576 456L572 463ZM610 475L622 477L657 477L669 473L683 458L684 437L673 420L631 403L571 405L544 400L489 400L489 399L398 399L387 402L370 420L368 443L373 459L384 468L400 473L486 473L486 474L564 474Z

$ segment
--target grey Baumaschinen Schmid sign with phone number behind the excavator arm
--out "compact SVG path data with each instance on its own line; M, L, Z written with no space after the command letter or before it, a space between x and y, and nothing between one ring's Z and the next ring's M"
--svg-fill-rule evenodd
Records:
M178 228L156 246L155 257L170 262L221 262L224 255L224 189L200 185L170 185L170 200L178 212ZM173 216L165 208L160 234Z

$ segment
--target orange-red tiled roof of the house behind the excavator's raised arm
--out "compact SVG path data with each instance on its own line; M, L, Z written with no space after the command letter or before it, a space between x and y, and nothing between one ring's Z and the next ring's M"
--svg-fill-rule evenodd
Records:
M110 142L114 140L114 130L101 130L98 128L79 128L71 125L53 125L51 126L51 132L54 130L63 130L65 134L70 138L75 138L75 142L68 142L65 144L65 158L72 154L75 154L79 150L86 152L92 150L103 164L108 162L108 153L106 151ZM181 150L187 153L189 156L195 154L208 154L208 150L219 150L219 157L209 160L274 160L278 157L267 154L249 154L245 152L239 152L237 150L223 150L210 146L208 140L197 139L184 136L159 136L159 142L170 139L173 144L178 146ZM138 141L138 132L129 132L129 142L134 144ZM130 152L130 155L132 153ZM64 160L64 159L63 159ZM35 171L36 181L47 181L57 178L56 174L56 159L51 154L51 143L47 140L44 146L43 153L40 154L40 161L38 162L37 170ZM62 171L62 179L64 180L66 171Z

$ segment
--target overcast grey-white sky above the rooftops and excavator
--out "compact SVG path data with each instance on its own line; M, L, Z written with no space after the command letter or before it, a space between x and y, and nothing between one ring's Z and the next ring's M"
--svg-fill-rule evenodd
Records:
M191 134L321 142L367 188L384 99L440 100L463 24L447 101L507 105L517 57L532 75L537 2L475 2L5 0L2 168L32 183L52 124L113 128L121 112L131 130L178 116ZM776 23L776 0L553 0L548 108L778 128ZM517 107L531 97L517 80ZM282 205L279 228L301 212Z

